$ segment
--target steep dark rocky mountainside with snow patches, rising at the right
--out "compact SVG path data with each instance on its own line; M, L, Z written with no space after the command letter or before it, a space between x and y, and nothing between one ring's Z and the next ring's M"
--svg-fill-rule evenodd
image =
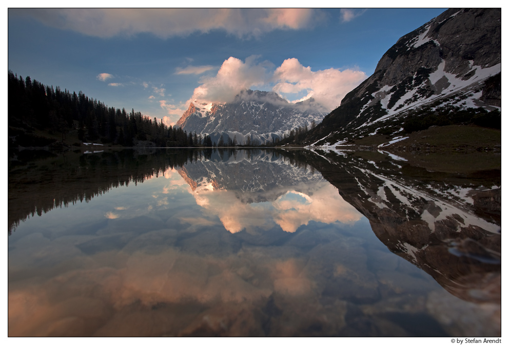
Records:
M449 9L401 37L301 144L492 121L486 113L501 109L500 72L501 9Z

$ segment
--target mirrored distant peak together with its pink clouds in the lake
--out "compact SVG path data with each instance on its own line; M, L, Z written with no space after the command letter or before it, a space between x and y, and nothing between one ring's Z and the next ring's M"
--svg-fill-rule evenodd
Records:
M277 151L219 150L178 168L197 204L231 233L276 224L296 232L309 221L355 223L358 211L307 164Z

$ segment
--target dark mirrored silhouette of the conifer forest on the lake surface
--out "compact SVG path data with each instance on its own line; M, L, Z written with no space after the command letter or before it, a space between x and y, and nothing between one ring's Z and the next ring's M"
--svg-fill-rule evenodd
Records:
M142 183L187 161L210 157L205 150L119 150L96 154L45 150L10 152L8 164L8 232L30 216L88 202L109 189Z

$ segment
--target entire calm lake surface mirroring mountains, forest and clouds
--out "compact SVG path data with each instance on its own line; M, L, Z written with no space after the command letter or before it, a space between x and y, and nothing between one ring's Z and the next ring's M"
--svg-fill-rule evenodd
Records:
M501 336L500 170L9 155L9 336Z

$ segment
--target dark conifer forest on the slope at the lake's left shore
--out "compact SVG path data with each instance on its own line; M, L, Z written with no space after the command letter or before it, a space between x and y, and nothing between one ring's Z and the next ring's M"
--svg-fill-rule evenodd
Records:
M67 136L74 131L83 142L133 146L137 141L150 141L160 147L213 145L209 136L167 126L134 109L127 112L125 108L108 107L81 91L76 94L58 86L53 88L12 71L8 79L8 127L9 143L21 146L51 143L51 139L35 135L34 130L57 134L63 144L68 144Z

